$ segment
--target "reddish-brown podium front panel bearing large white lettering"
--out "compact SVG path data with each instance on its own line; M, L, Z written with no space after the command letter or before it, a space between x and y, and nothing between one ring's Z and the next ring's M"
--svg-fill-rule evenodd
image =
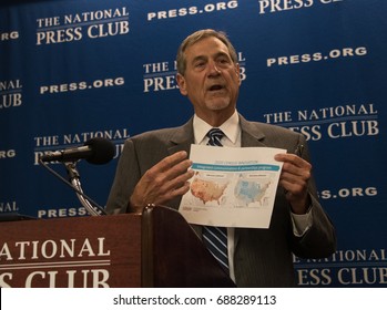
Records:
M140 267L140 215L0 225L0 287L141 287Z

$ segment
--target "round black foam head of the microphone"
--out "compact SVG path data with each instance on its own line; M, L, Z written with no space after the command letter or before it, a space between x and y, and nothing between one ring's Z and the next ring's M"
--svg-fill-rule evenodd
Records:
M92 154L85 159L90 164L103 165L114 157L114 145L110 140L104 137L93 137L84 143L92 149Z

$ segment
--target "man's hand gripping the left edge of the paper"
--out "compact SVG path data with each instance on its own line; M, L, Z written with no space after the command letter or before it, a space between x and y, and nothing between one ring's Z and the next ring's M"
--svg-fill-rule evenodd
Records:
M130 208L136 210L149 204L165 204L187 193L189 179L194 175L191 165L185 151L160 161L139 180L130 198Z

